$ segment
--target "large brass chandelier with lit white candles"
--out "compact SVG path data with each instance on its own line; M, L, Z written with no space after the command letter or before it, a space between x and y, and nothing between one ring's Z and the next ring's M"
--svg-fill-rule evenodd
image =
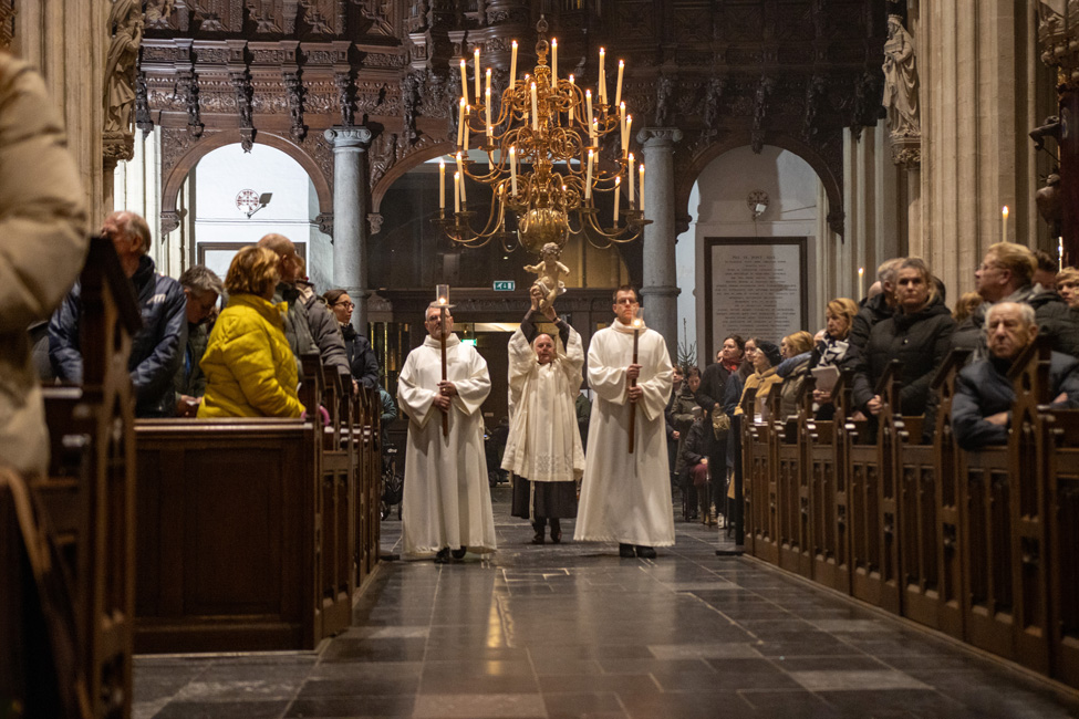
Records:
M455 242L483 247L498 238L510 250L512 233L506 231L506 213L518 218L517 236L531 252L553 242L562 248L569 235L584 232L601 248L630 242L651 220L644 219L644 163L630 148L633 124L622 102L623 61L619 61L614 102L606 92L605 51L600 49L599 87L579 86L573 77L558 76L558 40L548 42L547 20L536 25L539 40L533 74L517 79L517 41L512 43L509 86L491 117L491 71L480 95L479 49L474 52L474 92L468 92L467 64L460 61L461 96L458 102L457 152L449 159L453 174L453 211L446 207L446 160L439 160L438 219L435 222ZM548 54L551 64L548 65ZM600 161L601 140L620 133L614 161ZM468 161L471 136L476 149L487 155L486 166ZM468 209L466 178L491 188L491 204L481 229L474 229L475 211ZM622 205L622 190L627 202ZM613 195L613 210L600 217L596 197Z

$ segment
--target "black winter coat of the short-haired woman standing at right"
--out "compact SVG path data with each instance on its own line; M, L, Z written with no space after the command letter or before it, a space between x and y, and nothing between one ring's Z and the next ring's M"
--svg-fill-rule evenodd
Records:
M944 363L952 344L955 320L940 299L913 314L898 313L879 322L854 375L854 406L867 411L876 383L892 359L903 363L900 408L904 415L925 414L933 375Z

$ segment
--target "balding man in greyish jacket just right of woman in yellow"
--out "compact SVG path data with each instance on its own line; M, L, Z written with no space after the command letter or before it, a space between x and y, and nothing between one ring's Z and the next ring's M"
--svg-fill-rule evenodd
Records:
M314 285L300 277L303 264L295 253L295 244L283 235L270 233L259 240L259 247L269 248L281 258L281 280L273 293L273 302L289 305L284 315L284 336L297 361L304 352L318 352L322 364L336 367L351 378L352 368L338 321L315 294Z

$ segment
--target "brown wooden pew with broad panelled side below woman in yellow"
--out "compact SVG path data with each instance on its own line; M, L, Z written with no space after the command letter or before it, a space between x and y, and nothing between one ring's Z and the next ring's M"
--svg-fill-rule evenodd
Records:
M139 652L312 649L350 626L352 387L318 357L303 373L305 419L137 423Z

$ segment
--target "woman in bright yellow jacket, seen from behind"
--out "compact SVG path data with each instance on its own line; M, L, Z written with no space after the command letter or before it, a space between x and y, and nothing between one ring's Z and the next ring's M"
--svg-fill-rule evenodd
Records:
M284 305L271 302L279 258L246 247L225 278L228 306L210 332L200 366L206 395L199 417L299 417L297 364L284 338Z

